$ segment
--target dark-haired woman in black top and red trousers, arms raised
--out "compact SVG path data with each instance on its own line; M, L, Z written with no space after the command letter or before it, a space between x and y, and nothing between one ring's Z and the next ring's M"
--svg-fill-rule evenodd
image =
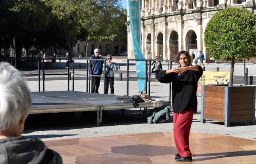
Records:
M187 51L180 51L176 60L180 67L163 70L158 73L161 83L172 82L173 135L177 153L176 161L192 161L189 149L189 133L193 113L197 112L197 81L203 74L200 66L191 66L191 56Z

